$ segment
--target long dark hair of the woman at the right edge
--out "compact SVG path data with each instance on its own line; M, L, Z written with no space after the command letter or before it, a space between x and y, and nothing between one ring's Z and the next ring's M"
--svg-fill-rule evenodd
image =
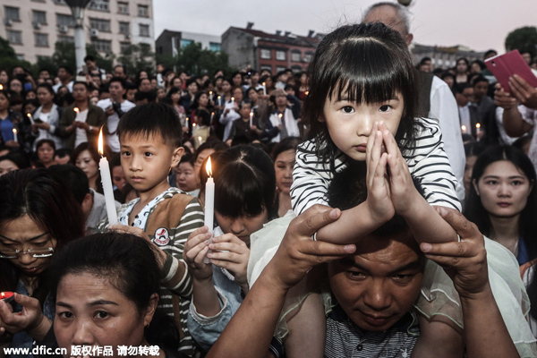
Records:
M528 196L526 206L520 213L518 220L519 237L524 240L530 259L537 257L537 241L533 239L537 233L537 190L535 189L535 168L530 158L527 158L520 149L511 146L494 146L486 149L475 161L472 172L472 181L476 183L482 177L483 173L492 163L508 160L521 170L527 176L531 184L532 191ZM490 218L489 214L482 205L482 200L477 195L473 185L470 185L470 195L465 208L465 216L479 227L479 230L485 236L490 235Z

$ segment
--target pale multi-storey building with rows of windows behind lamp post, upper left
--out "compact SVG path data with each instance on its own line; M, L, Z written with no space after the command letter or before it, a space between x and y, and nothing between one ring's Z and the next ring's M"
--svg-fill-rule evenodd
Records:
M74 41L74 20L63 0L0 0L0 37L19 58L51 56L56 41ZM86 43L119 55L131 44L154 46L152 0L92 0L84 14Z

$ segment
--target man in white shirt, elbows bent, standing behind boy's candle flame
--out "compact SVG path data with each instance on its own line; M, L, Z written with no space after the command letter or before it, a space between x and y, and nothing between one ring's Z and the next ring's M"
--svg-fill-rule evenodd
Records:
M107 114L107 145L114 153L119 153L119 138L115 133L119 118L127 113L134 104L124 99L126 84L123 78L113 77L108 82L110 98L98 101L97 106L101 107Z

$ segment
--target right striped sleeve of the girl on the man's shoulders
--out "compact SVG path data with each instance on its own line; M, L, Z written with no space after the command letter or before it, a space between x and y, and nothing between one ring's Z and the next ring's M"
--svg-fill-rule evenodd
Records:
M444 151L442 132L436 119L420 118L413 153L405 155L410 173L422 185L430 205L461 211L456 196L456 176Z

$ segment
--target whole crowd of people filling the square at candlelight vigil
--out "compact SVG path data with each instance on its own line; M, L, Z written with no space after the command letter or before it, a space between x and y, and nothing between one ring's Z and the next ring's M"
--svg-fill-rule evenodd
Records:
M537 89L412 40L379 3L308 72L0 68L0 346L536 357Z

